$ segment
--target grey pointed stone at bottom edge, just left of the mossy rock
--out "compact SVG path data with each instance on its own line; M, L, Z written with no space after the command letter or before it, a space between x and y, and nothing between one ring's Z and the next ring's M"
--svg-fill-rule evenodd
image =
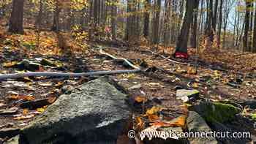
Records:
M195 111L189 111L187 118L187 128L189 132L194 132L194 134L206 134L205 132L211 132L211 128L206 124L206 121ZM197 132L197 133L196 133ZM190 137L190 144L217 144L218 141L214 137Z

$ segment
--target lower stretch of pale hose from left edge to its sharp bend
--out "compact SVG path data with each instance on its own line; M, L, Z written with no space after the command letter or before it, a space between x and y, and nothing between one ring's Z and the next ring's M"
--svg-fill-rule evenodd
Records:
M0 75L0 80L6 79L17 79L21 77L87 77L93 75L114 75L123 73L135 73L140 72L140 69L132 70L109 70L109 71L99 71L99 72L83 72L83 73L65 73L65 72L24 72L17 74L7 74Z

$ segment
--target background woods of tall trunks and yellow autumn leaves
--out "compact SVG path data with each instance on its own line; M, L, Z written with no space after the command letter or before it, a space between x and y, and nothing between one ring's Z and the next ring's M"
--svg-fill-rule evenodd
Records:
M0 19L24 28L83 31L88 39L256 53L253 0L1 0ZM2 21L1 21L2 22Z

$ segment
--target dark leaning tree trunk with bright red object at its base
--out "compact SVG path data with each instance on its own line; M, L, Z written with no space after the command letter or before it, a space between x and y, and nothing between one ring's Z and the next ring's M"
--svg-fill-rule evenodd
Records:
M184 21L181 27L181 34L178 37L178 42L176 45L176 52L187 53L187 42L189 38L189 28L192 22L192 12L195 8L195 3L197 0L187 0L186 13Z

